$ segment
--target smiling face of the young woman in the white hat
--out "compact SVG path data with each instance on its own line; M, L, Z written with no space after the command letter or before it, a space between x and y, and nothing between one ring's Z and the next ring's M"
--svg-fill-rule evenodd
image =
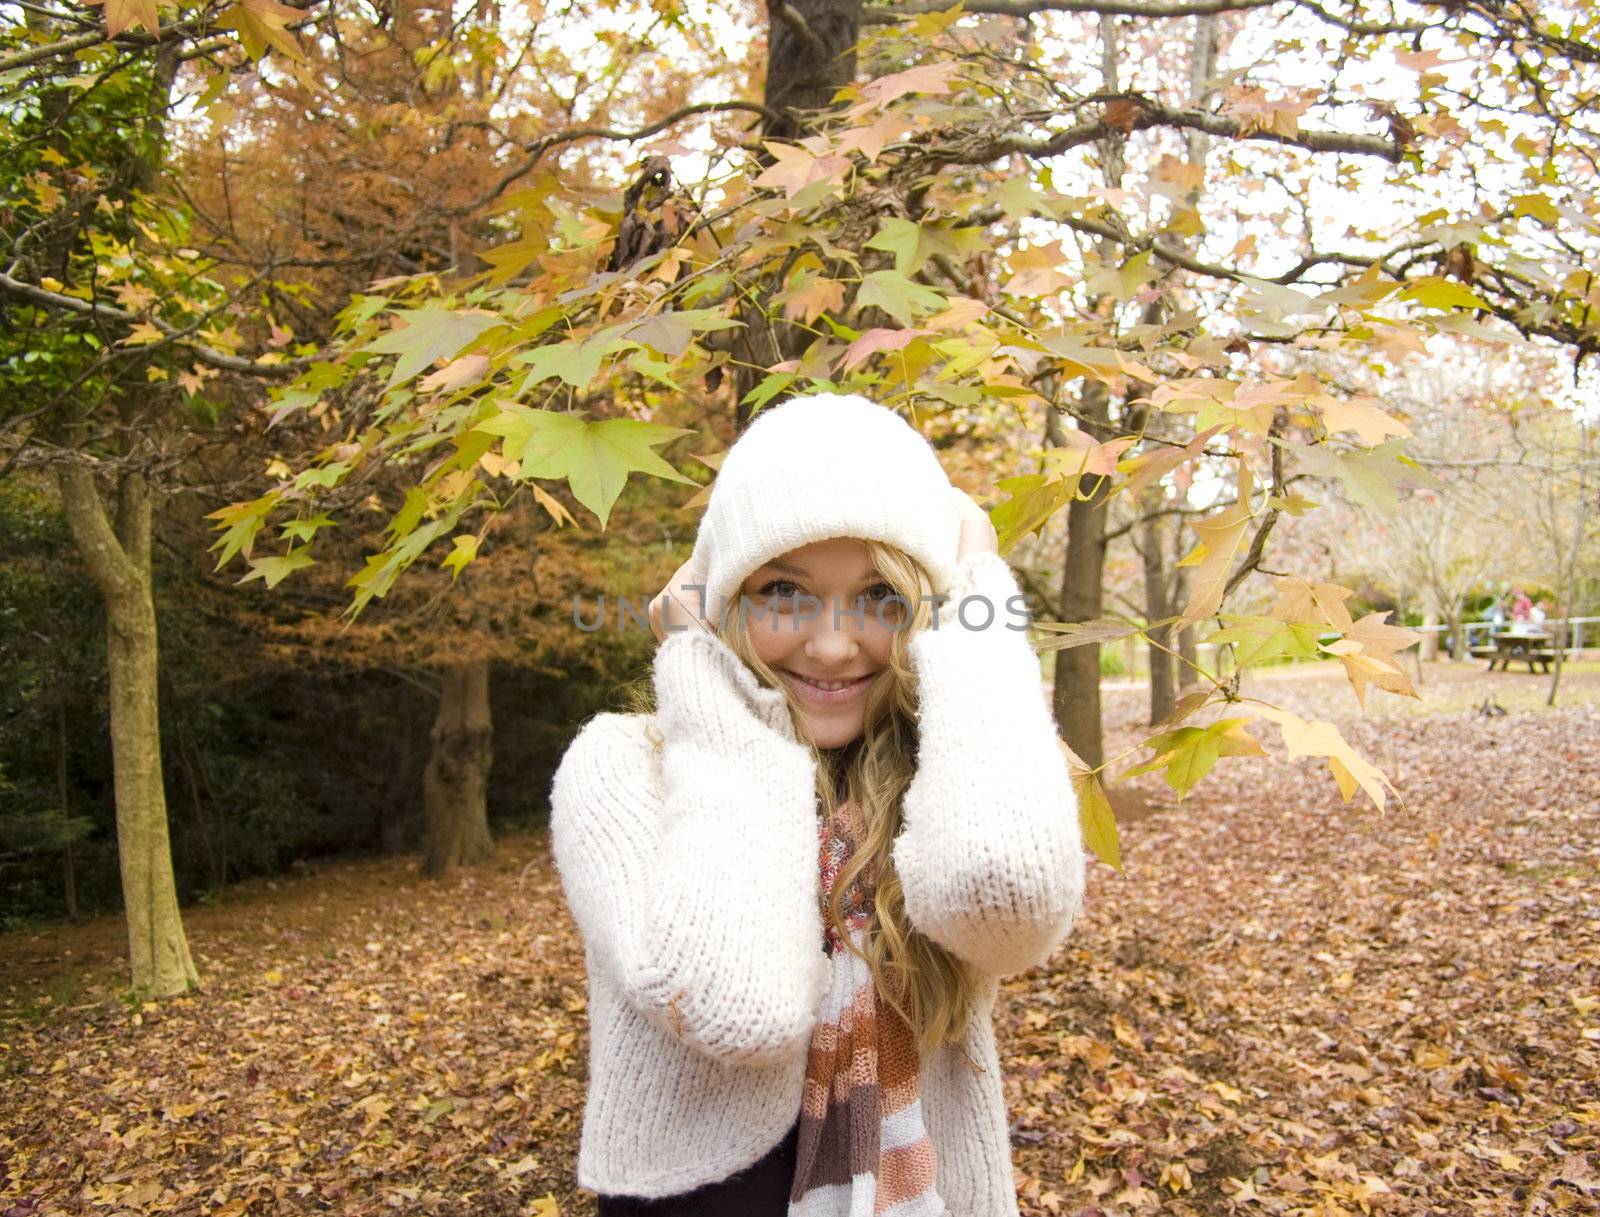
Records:
M867 688L890 662L906 606L864 542L829 537L789 550L741 585L750 644L789 688L819 748L854 740Z

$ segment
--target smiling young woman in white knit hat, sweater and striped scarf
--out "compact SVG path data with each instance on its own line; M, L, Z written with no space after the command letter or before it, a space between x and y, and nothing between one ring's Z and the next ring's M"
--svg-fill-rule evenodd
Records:
M653 713L592 718L550 790L579 1185L600 1217L1016 1217L995 993L1083 852L987 515L891 409L794 398L650 616Z

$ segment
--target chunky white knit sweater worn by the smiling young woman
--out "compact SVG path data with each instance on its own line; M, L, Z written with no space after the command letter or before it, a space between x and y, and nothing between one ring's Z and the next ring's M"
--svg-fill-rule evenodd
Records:
M918 763L894 867L910 921L987 977L965 1052L922 1062L936 1188L952 1217L1014 1217L992 1009L1077 916L1077 803L1005 560L970 555L909 643ZM965 628L960 600L973 601ZM1013 600L1016 597L1016 600ZM552 854L586 945L589 1094L578 1182L669 1196L760 1159L800 1111L830 977L810 748L779 689L715 635L672 633L656 721L602 713L550 792Z

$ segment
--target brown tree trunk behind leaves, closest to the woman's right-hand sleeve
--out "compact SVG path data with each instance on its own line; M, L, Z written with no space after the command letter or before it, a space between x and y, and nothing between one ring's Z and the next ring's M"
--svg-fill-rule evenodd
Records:
M1083 387L1078 425L1096 443L1109 433L1110 390L1101 381ZM1061 619L1101 616L1106 574L1106 494L1110 478L1096 478L1086 499L1067 505L1067 557L1061 573ZM1091 769L1106 760L1101 744L1099 648L1064 646L1056 651L1054 702L1061 737Z

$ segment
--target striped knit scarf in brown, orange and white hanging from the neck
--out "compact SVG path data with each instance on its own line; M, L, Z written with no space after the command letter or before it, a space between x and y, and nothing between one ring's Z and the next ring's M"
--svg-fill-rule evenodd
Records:
M826 912L835 876L866 835L861 809L845 801L819 820L818 835L834 980L811 1035L789 1217L942 1217L917 1095L917 1038ZM850 940L862 952L874 881L869 867L842 902Z

